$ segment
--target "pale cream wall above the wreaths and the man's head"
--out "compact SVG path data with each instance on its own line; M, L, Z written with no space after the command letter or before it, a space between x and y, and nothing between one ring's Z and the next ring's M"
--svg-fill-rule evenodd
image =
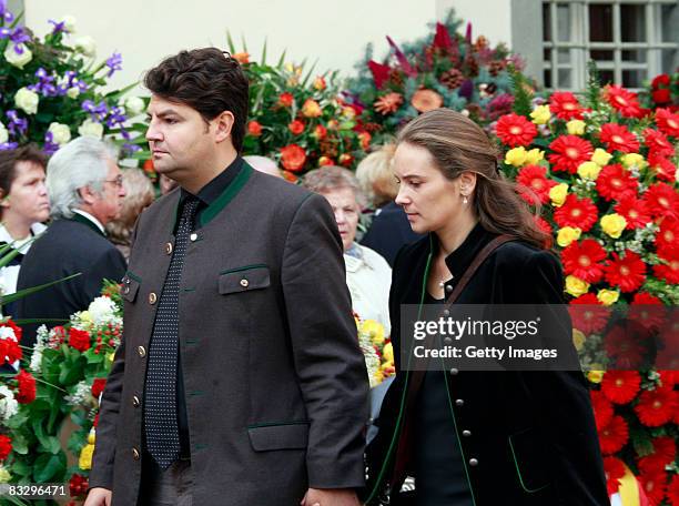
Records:
M24 0L23 3L27 24L38 33L51 28L48 19L72 14L78 20L77 36L94 38L99 58L121 52L123 71L112 79L114 87L121 87L181 49L209 44L226 48L226 30L236 45L243 34L251 54L257 58L266 38L270 60L277 60L287 49L288 61L317 58L318 73L338 69L348 74L363 57L366 43L373 42L376 54L383 55L387 49L386 34L396 41L422 37L427 23L443 12L438 4L446 2Z

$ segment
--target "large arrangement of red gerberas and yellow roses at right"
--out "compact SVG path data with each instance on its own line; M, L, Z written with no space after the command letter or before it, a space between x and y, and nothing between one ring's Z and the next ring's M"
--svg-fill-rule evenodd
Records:
M679 114L601 89L590 70L585 97L556 91L527 115L499 118L495 133L504 172L554 234L576 347L617 363L586 364L610 492L631 469L651 504L679 505L678 376L658 371L678 368L676 317L665 310L679 301ZM643 351L608 325L614 313L659 332L657 354L641 363Z

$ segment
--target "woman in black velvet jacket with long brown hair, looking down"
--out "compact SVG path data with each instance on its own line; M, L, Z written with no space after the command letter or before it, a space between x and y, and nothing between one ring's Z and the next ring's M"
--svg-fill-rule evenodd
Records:
M496 160L483 130L450 110L425 113L399 134L396 203L413 231L428 236L402 249L394 265L389 311L397 381L378 423L384 431L376 445L387 463L378 482L393 485L394 461L405 459L407 474L415 477L415 497L406 503L392 493L392 504L608 505L589 393L579 371L429 368L416 401L402 408L408 374L399 360L405 346L401 305L442 303L493 239L509 234L515 240L487 257L456 303L564 302L561 266L546 249L549 236L499 175ZM389 429L396 434L385 434Z

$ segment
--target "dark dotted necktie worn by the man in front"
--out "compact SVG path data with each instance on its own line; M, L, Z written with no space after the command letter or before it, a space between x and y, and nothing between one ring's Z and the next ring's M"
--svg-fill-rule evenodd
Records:
M182 267L199 201L184 201L174 239L174 252L158 303L144 392L144 431L146 449L163 469L180 454L176 411L176 364L179 348L179 290Z

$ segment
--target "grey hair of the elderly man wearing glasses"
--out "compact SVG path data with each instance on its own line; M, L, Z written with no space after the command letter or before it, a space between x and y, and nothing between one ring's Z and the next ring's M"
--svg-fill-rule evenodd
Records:
M101 193L109 173L107 160L116 160L113 146L92 136L80 136L64 144L50 159L45 185L52 217L71 217L82 205L79 189L90 186Z

